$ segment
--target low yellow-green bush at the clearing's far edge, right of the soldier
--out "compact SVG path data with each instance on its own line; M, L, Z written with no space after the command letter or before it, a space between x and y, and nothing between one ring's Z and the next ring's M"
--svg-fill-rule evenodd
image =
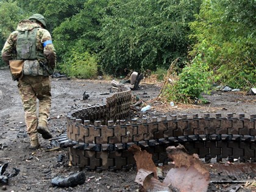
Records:
M90 79L97 75L97 59L88 52L79 54L73 50L64 62L60 64L60 69L70 77Z

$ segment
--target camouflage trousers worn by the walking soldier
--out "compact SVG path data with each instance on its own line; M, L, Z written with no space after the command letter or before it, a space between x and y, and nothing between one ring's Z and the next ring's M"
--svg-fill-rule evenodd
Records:
M23 76L18 81L18 88L25 111L27 133L30 139L37 138L37 124L47 124L51 110L51 81L50 77ZM37 99L39 106L37 110ZM38 112L38 115L37 115Z

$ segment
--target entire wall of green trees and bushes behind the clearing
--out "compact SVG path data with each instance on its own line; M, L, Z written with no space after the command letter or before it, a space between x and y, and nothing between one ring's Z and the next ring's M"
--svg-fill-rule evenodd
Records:
M40 13L60 72L150 70L172 80L168 101L190 102L213 83L255 87L255 10L255 0L0 0L0 49L18 21Z

